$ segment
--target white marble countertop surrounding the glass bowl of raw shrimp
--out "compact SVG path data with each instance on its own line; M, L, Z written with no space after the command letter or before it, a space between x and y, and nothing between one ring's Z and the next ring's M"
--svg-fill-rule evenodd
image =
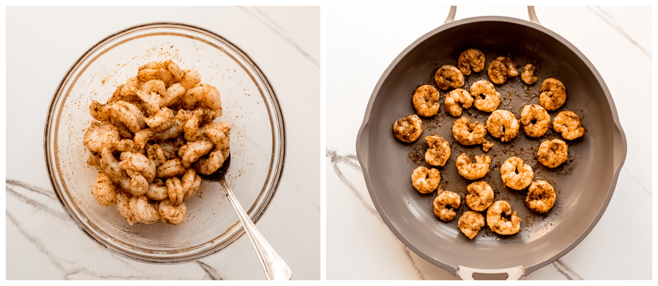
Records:
M7 279L265 279L246 235L186 264L145 264L112 254L72 223L51 188L43 126L64 73L103 37L162 20L230 39L272 82L289 151L278 191L256 226L293 279L320 278L320 176L306 172L320 164L319 7L7 7L6 16Z

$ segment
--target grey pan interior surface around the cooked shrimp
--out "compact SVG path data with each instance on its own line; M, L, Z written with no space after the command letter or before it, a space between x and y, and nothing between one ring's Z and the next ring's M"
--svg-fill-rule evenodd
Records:
M522 82L520 76L496 85L501 93L499 108L520 118L523 105L539 104L541 83L546 78L557 78L567 87L568 97L561 108L549 111L551 120L561 110L572 110L580 116L586 135L569 141L551 128L535 139L521 130L512 141L501 143L488 134L488 141L495 145L484 153L480 145L463 146L454 141L451 126L457 117L445 114L443 100L447 92L441 91L440 112L431 118L421 117L424 131L420 138L413 143L395 139L393 122L415 113L411 103L415 89L422 84L436 87L434 72L443 64L456 66L461 51L471 47L486 55L486 66L509 52L520 68L526 63L537 67L539 80L534 85ZM476 80L489 80L486 66L482 72L465 76L463 88L468 90ZM484 123L489 114L471 107L462 116ZM422 160L424 137L435 133L451 143L447 163L436 167L441 172L443 189L464 199L466 186L473 181L459 176L455 159L462 153L492 156L490 172L482 180L495 190L494 201L504 199L517 210L522 218L519 233L498 235L485 226L469 240L457 228L461 214L470 210L465 203L455 210L457 216L450 222L434 216L432 202L437 192L418 193L411 185L411 172L417 166L430 167ZM535 155L542 141L555 138L567 141L569 159L550 169L539 164ZM482 16L443 24L393 60L370 97L357 137L357 156L380 216L409 249L455 275L458 266L485 270L524 266L527 275L573 249L601 218L626 157L626 138L609 90L576 47L539 24ZM555 188L557 201L546 214L530 212L524 206L527 189L502 187L499 166L511 156L523 158L533 167L535 180L544 179ZM486 212L481 213L486 218Z

